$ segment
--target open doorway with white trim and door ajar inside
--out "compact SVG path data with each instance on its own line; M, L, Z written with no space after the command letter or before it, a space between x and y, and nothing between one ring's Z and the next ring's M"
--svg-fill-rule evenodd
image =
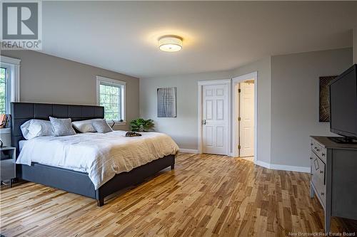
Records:
M232 155L256 163L257 73L232 80Z

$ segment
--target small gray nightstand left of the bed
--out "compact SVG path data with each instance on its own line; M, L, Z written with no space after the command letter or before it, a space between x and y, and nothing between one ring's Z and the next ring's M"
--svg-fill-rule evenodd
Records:
M16 148L1 147L0 158L1 181L10 180L10 187L12 187L12 179L16 178Z

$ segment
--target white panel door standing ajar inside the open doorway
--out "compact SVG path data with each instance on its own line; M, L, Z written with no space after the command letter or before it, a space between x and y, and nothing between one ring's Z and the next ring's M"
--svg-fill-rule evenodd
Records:
M239 93L239 143L240 157L253 157L254 155L254 84L241 83Z

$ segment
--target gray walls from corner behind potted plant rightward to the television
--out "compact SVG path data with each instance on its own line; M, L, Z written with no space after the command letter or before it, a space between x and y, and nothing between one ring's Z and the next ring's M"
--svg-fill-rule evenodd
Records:
M197 82L258 71L258 162L309 167L310 135L333 135L318 122L318 78L352 64L352 48L272 56L231 71L140 80L140 115L183 149L197 149ZM177 87L178 117L156 117L156 88Z

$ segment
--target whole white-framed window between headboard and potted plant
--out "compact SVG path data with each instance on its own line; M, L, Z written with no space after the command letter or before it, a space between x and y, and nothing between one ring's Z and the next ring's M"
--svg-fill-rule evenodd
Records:
M121 80L96 77L97 104L104 106L104 118L125 122L125 85Z

